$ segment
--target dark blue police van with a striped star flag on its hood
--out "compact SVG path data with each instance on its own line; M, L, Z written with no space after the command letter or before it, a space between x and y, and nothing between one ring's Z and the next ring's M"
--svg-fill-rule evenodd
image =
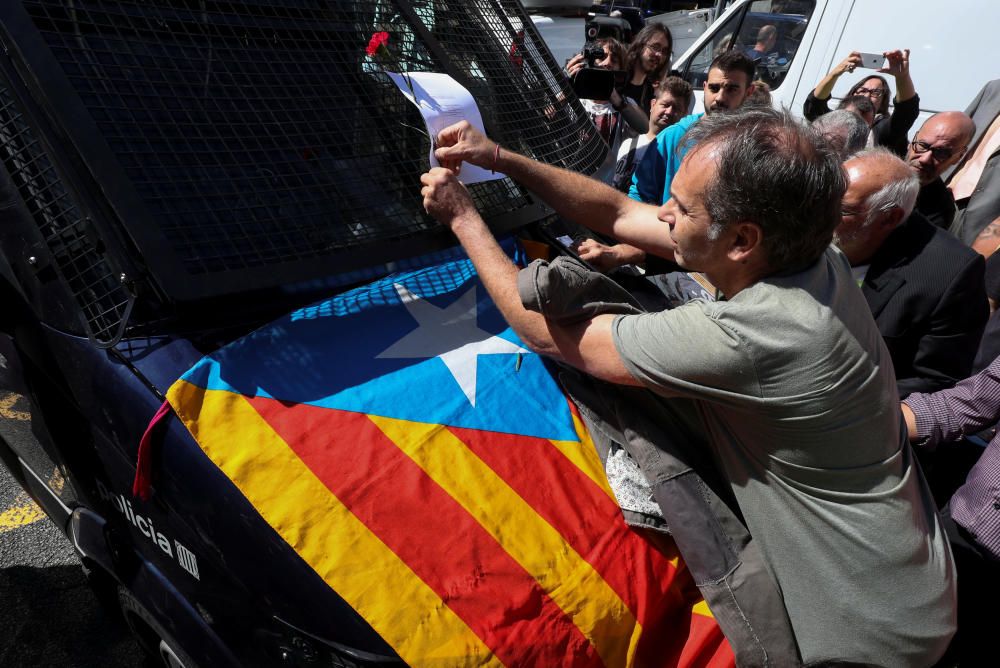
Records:
M11 0L0 41L0 459L151 655L732 665L422 207L431 75L604 161L519 3ZM555 235L482 171L495 233Z

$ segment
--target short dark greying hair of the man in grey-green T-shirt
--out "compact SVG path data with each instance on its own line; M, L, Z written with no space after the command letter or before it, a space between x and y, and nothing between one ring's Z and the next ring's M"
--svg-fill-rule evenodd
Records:
M788 110L742 107L702 117L682 144L717 154L704 192L710 235L749 221L772 271L801 269L830 245L847 175L840 157Z

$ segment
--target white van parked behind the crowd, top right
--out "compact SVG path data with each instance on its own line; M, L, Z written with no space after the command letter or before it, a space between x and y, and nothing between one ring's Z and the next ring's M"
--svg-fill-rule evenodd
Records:
M730 43L752 48L766 24L778 29L778 41L761 59L758 75L771 85L774 106L799 116L809 92L851 51L910 49L921 115L911 135L935 112L965 109L987 81L1000 77L996 0L741 0L674 62L696 90L696 112L703 111L702 84L713 55ZM875 73L857 69L840 77L830 106Z

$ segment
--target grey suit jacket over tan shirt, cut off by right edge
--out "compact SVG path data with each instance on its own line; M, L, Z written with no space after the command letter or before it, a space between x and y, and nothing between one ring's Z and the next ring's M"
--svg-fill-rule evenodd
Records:
M976 150L976 146L979 145L986 129L1000 113L1000 79L994 79L983 86L965 113L972 116L972 120L976 122L976 134L969 144L966 158L963 158L951 173L946 174L948 178L965 164L968 156ZM983 228L993 222L997 216L1000 216L1000 167L998 167L998 163L1000 163L1000 150L994 151L986 162L976 189L969 197L966 206L959 207L958 215L955 216L951 225L951 232L968 245L972 245ZM961 205L962 202L959 204Z

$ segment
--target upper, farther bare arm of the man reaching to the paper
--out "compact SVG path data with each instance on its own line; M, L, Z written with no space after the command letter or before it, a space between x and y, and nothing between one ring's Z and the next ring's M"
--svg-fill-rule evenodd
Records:
M445 168L457 173L463 162L469 162L503 172L559 215L647 253L673 258L668 227L657 219L655 206L631 200L582 174L502 149L465 121L442 130L436 146L434 155Z

